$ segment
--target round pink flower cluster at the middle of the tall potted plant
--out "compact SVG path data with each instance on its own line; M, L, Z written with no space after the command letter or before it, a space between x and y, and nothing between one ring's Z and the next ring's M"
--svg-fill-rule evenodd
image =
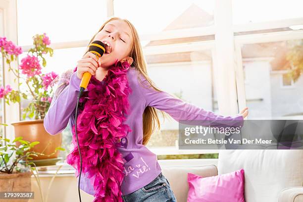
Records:
M27 77L41 74L41 66L39 60L34 55L27 55L21 60L20 69L22 74L26 74Z

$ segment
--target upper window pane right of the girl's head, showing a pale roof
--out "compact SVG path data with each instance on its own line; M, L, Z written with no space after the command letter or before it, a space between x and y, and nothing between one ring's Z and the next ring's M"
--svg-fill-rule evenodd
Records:
M140 35L213 25L213 8L213 0L114 0L115 15Z

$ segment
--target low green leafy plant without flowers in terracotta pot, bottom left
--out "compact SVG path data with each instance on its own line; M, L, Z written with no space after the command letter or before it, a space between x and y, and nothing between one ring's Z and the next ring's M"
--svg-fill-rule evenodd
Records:
M6 125L6 124L1 124ZM19 143L17 146L16 143ZM40 152L32 152L31 150L38 145L39 142L29 142L23 140L23 137L17 137L13 141L0 138L0 191L1 192L30 192L31 191L31 175L34 174L37 182L40 182L36 165L30 160L33 156L46 155ZM56 148L53 153L62 148ZM53 154L51 153L51 154ZM36 174L35 172L36 171ZM38 183L40 194L42 189ZM11 202L20 201L10 199ZM22 201L28 201L22 199Z

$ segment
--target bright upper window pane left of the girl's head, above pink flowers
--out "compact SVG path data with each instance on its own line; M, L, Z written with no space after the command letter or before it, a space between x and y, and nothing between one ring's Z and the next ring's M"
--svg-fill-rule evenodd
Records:
M92 12L92 10L96 10ZM17 0L18 45L44 32L51 43L89 40L106 20L105 0Z

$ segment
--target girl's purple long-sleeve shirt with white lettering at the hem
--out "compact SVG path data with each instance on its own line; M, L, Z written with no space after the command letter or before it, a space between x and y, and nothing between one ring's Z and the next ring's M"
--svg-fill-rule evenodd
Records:
M158 92L152 87L144 88L138 81L138 75L144 84L148 84L145 77L139 74L139 71L134 67L131 67L127 72L132 94L129 95L130 113L124 123L131 127L132 132L121 140L123 147L118 148L125 159L125 177L121 185L123 195L130 194L148 185L161 172L156 154L142 145L143 112L147 106L167 112L176 121L212 120L214 121L213 125L215 125L216 120L243 120L243 116L240 114L235 116L218 115L177 99L166 92ZM74 72L70 78L69 85L57 98L52 100L44 118L44 127L51 135L61 132L68 122L70 128L74 125L74 113L80 82L81 79ZM207 122L207 125L209 125L209 122ZM93 185L85 175L81 175L80 188L88 194L95 194Z

